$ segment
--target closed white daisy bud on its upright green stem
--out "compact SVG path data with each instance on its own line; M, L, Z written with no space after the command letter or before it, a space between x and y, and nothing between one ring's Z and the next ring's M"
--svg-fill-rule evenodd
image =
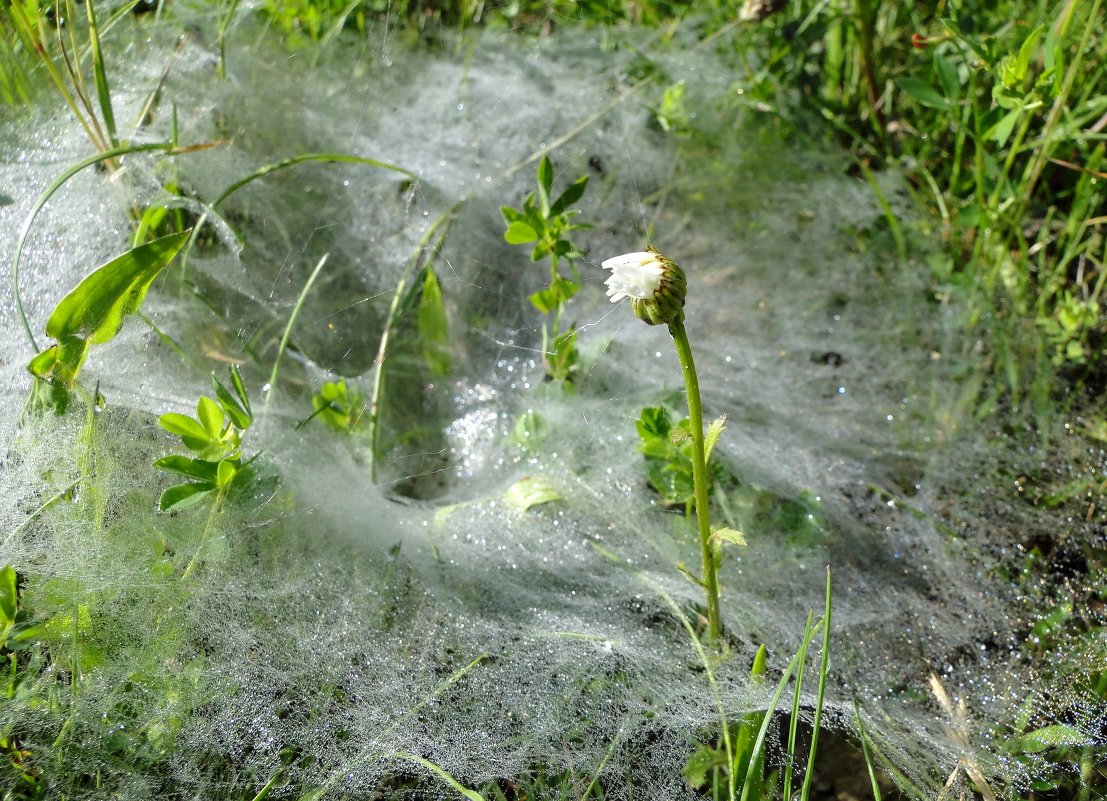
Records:
M695 489L696 523L700 532L700 559L702 575L684 571L707 596L707 638L718 645L723 635L723 622L718 611L718 563L723 543L745 544L745 538L727 528L711 528L711 512L707 508L707 446L703 431L703 404L700 400L700 379L692 360L692 346L684 330L684 298L687 281L676 262L650 246L642 252L624 253L607 259L603 269L611 270L604 282L612 303L629 298L631 308L639 320L649 325L665 324L676 346L676 356L684 374L684 388L689 402L689 420L692 433L692 472ZM712 445L722 434L722 425L712 426Z

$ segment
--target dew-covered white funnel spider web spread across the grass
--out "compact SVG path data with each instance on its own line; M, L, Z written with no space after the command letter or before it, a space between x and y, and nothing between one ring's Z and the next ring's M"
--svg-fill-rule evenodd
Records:
M1036 437L965 418L960 345L927 290L925 243L899 260L871 186L817 125L795 122L796 101L751 98L741 64L756 56L735 54L749 35L407 44L375 29L369 44L289 51L247 18L221 82L210 25L113 30L116 116L135 119L165 71L137 137L167 138L176 107L182 144L220 144L130 157L114 177L86 169L50 200L20 275L40 345L61 295L126 249L132 208L195 220L254 169L306 153L414 178L304 164L235 193L144 305L187 358L128 319L82 373L107 400L89 419L79 408L20 424L31 350L4 300L0 563L28 582L50 656L2 720L32 760L62 766L55 787L249 798L276 778L275 798L364 798L424 777L425 792L453 793L425 759L469 787L546 770L568 771L577 795L599 777L610 799L691 798L693 739L717 730L720 707L731 719L765 707L770 685L747 678L754 651L766 644L779 675L823 607L828 565L827 724L856 732L856 704L904 787L933 794L959 763L1001 794L1025 787L1035 763L1004 753L1027 726L1065 722L1101 743L1103 709L1065 679L1101 649L1063 648L1072 666L1044 686L1026 645L1041 604L1011 583L1035 532L1061 526L1092 542L1101 522L1015 497L1013 477L1048 456ZM666 134L650 108L682 80L689 129ZM33 198L89 153L41 98L0 134L6 259ZM498 212L521 204L547 149L555 188L590 176L573 392L544 381L527 297L545 262L505 243ZM161 188L170 180L180 197ZM918 236L903 180L877 183ZM635 450L643 406L681 408L676 360L663 329L607 302L598 269L651 240L689 274L706 415L727 416L716 454L736 478L721 508L749 540L723 569L732 657L714 691L680 618L694 623L702 603L674 566L697 563L694 533L661 507ZM448 310L448 375L430 371L408 311L384 349L380 457L318 419L297 428L327 381L372 395L396 287L426 264ZM179 447L157 416L190 412L228 362L258 412L246 450L261 451L260 478L183 579L207 508L156 511L168 479L151 462ZM525 447L514 431L527 412L545 425ZM1100 461L1085 452L1067 478L1098 476ZM560 499L511 503L527 478ZM1079 572L1067 580L1076 595ZM955 782L969 787L964 770Z

